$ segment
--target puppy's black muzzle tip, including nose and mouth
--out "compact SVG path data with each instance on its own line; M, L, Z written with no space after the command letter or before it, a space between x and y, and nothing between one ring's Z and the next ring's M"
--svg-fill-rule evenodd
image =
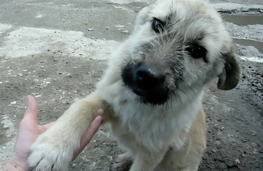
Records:
M168 99L169 88L165 83L165 74L155 65L127 63L121 77L124 85L140 96L140 102L163 104Z

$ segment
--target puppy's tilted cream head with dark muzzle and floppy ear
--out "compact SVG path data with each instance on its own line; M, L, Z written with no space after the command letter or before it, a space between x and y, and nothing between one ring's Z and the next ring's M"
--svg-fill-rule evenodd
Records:
M216 77L222 90L239 82L232 39L203 0L159 0L145 7L128 42L121 76L143 103L163 104L179 91L187 96Z

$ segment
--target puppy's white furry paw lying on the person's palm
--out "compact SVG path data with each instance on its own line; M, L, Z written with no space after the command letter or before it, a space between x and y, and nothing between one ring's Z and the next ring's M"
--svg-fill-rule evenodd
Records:
M42 138L42 137L39 137ZM47 139L46 139L47 140ZM27 162L30 171L69 171L73 153L60 141L36 141Z

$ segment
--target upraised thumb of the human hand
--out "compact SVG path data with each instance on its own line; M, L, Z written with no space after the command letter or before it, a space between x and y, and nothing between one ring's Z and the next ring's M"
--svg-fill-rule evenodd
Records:
M36 121L38 104L34 99L34 97L31 95L28 95L26 98L27 98L27 105L23 119Z

